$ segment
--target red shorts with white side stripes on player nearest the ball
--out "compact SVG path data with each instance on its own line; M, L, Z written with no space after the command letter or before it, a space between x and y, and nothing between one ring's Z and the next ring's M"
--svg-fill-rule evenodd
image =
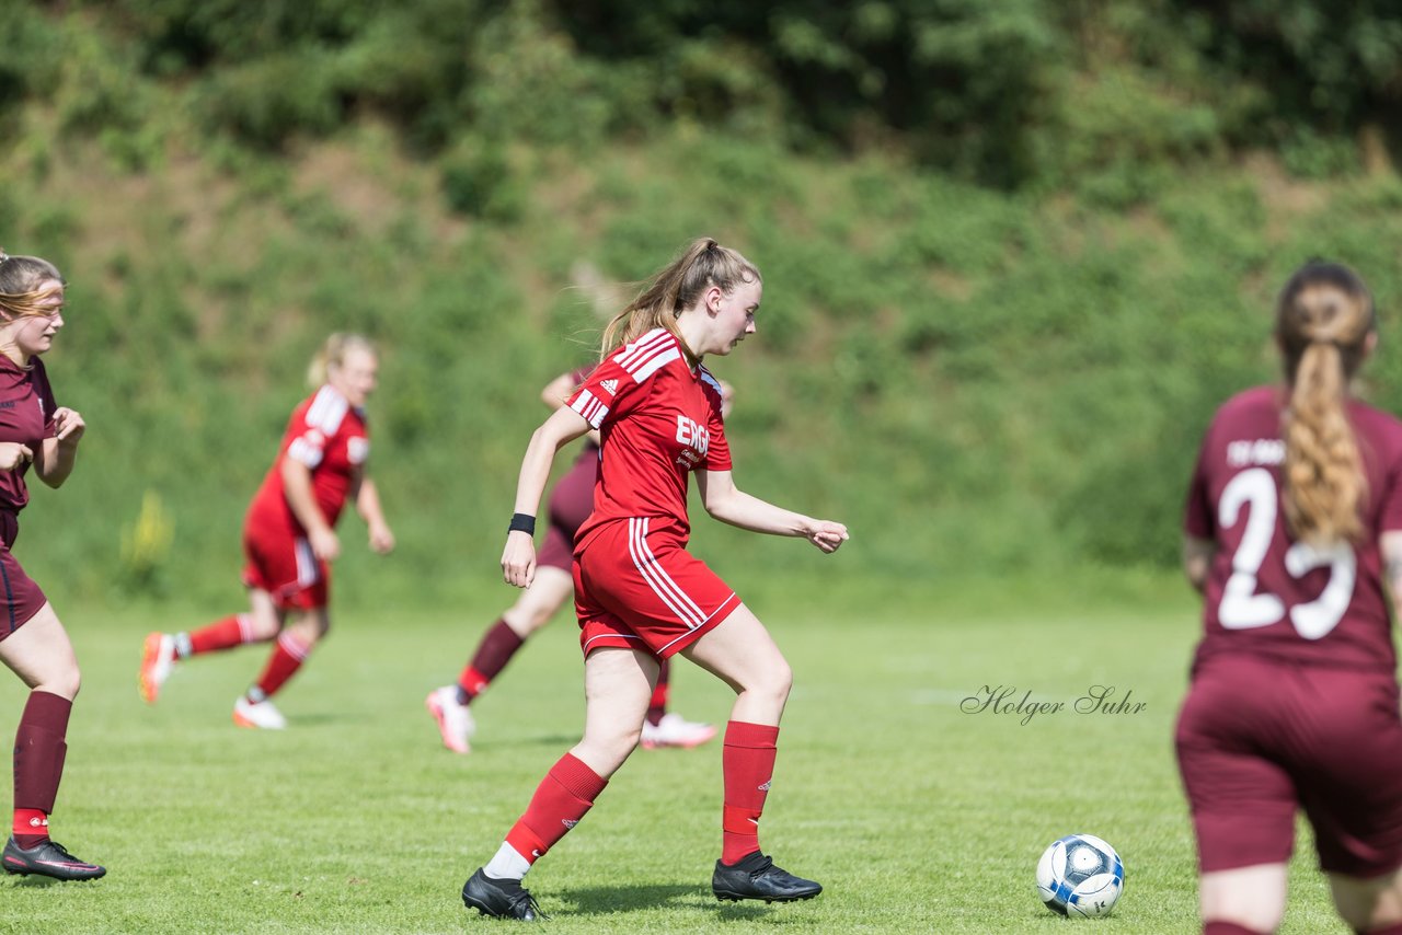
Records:
M648 535L646 519L592 533L575 555L575 611L585 655L600 646L667 659L729 617L740 599L673 535Z

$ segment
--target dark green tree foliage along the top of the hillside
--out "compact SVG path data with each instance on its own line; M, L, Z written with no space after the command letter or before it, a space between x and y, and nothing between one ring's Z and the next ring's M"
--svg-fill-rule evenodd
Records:
M894 144L998 186L1109 174L1109 198L1143 199L1148 184L1124 177L1145 160L1294 146L1302 171L1339 171L1356 161L1330 140L1402 125L1402 8L1385 0L76 6L130 49L115 57L136 73L118 80L186 88L202 126L262 149L367 111L428 151L472 133L592 144L686 119L799 149ZM0 70L52 94L59 14L7 10L17 55Z

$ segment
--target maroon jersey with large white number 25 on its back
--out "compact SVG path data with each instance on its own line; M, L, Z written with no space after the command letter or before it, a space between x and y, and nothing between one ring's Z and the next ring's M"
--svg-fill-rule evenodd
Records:
M1314 548L1286 530L1280 500L1283 390L1228 400L1203 439L1185 528L1217 542L1203 604L1203 659L1245 650L1314 664L1396 667L1378 535L1402 530L1402 422L1350 401L1367 475L1357 545Z

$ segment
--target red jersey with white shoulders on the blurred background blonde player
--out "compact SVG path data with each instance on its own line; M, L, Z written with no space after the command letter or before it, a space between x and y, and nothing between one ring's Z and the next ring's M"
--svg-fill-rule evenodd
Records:
M278 458L248 507L250 524L271 524L294 535L307 534L293 516L282 488L282 460L294 458L311 471L317 506L327 524L335 526L367 457L370 436L365 411L352 407L331 385L321 387L293 409Z

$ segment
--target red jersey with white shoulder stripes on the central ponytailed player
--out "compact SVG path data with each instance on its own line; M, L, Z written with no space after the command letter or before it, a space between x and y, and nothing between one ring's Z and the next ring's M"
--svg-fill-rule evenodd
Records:
M634 517L686 542L688 472L730 470L715 377L700 364L693 370L676 336L655 328L608 355L568 405L603 440L594 512L579 528L576 552L600 526Z

